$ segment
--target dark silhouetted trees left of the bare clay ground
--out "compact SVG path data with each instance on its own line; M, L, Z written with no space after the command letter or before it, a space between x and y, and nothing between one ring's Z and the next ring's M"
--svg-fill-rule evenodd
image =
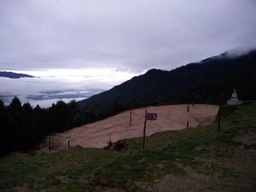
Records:
M96 105L84 109L77 102L58 101L50 108L21 104L15 97L8 106L0 100L0 155L36 148L51 133L95 122L127 109L115 104L102 110Z

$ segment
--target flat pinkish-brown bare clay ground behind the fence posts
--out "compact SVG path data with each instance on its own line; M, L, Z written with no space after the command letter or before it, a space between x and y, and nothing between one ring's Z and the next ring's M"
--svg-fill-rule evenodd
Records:
M66 149L67 142L70 146L80 145L84 148L103 148L111 142L117 142L125 138L143 137L143 126L145 110L148 113L157 113L156 120L147 121L146 135L155 132L181 130L189 127L212 124L218 113L218 106L195 104L189 105L167 105L159 107L137 108L132 111L119 113L108 119L103 119L92 124L75 127L72 130L57 133L51 137L51 148L53 151ZM131 113L131 126L130 126ZM38 152L48 151L49 138L42 143Z

